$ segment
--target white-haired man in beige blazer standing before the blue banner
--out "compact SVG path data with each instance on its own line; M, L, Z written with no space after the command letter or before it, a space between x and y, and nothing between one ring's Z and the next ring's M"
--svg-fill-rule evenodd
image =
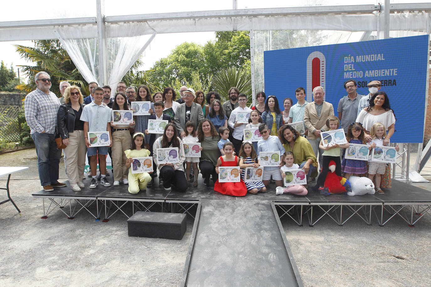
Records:
M320 133L329 130L325 122L329 116L334 115L334 107L331 103L323 100L324 96L325 90L323 87L316 86L313 89L314 101L306 105L304 110L304 123L305 127L309 130L307 139L313 148L314 154L319 158L320 167L322 167L323 153L323 150L319 149ZM319 157L317 156L318 151Z

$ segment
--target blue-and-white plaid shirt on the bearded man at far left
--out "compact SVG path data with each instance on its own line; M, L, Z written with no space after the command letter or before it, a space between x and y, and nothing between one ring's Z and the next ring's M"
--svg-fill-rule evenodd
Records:
M60 101L53 92L46 93L40 89L25 96L25 120L30 127L30 133L54 134L57 125L57 112Z

